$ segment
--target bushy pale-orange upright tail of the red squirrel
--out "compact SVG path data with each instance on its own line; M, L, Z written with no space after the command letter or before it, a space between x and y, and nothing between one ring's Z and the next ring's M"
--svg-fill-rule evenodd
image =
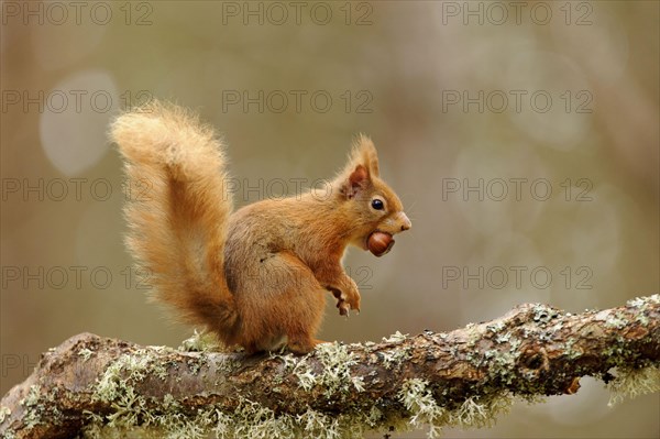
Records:
M128 244L153 296L231 343L238 315L223 246L232 199L221 142L195 114L160 102L120 116L111 138L127 160Z

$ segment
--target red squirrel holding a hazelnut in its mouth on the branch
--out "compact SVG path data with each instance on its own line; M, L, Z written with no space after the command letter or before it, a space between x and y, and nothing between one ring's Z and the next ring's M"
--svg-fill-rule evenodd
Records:
M248 352L286 345L307 353L326 305L360 310L341 260L348 244L375 255L410 229L397 195L380 177L372 141L359 136L330 190L266 199L232 211L224 147L190 111L154 101L117 118L111 138L131 187L128 245L148 270L153 296Z

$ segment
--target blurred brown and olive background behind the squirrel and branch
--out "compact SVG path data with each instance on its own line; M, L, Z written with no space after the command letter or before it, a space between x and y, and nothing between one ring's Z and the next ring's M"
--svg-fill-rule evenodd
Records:
M2 394L79 332L191 333L147 304L122 242L130 188L106 132L154 97L223 133L239 206L332 177L373 138L414 227L382 259L350 252L363 312L328 300L321 339L659 290L658 2L1 6ZM607 400L585 378L447 437L660 436L658 394Z

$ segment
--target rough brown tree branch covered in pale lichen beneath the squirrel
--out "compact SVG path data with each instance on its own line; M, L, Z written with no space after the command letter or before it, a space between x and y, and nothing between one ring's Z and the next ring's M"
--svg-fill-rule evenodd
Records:
M305 356L82 333L44 353L2 398L0 436L343 437L424 424L433 436L443 425L488 425L513 396L574 393L585 375L630 394L658 391L660 296L580 315L521 305L448 333L328 343Z

